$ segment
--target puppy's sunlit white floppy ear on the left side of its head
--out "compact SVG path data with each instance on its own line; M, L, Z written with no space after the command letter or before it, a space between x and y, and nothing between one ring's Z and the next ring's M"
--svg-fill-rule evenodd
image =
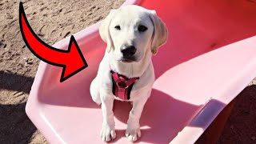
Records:
M106 50L110 52L114 48L113 41L110 35L110 22L117 10L110 10L110 14L103 20L102 25L99 26L99 34L104 42L106 42Z

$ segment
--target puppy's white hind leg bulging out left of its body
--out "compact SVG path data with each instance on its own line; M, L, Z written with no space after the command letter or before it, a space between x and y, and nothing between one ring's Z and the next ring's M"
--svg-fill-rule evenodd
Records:
M94 78L93 82L90 84L90 95L94 102L98 105L102 103L100 95L99 95L99 82L98 77Z

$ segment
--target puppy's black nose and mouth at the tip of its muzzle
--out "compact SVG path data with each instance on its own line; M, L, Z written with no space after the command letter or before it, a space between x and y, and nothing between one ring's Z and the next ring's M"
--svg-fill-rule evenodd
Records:
M135 46L122 46L122 60L123 62L133 62L135 61L134 54L136 53L137 49Z

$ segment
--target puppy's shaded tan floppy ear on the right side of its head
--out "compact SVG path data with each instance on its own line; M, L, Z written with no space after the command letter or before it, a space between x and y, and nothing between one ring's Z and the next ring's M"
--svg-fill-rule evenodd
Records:
M151 52L152 54L158 53L158 47L162 46L166 43L168 37L168 30L166 25L158 15L155 10L150 10L150 19L154 25L154 33L152 35L152 43L151 43Z

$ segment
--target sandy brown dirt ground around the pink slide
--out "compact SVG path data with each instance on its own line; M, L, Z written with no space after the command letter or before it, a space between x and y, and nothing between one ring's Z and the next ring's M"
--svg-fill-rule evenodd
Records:
M124 0L26 0L33 30L50 45L106 17ZM38 68L18 25L18 1L0 2L0 143L47 143L25 114ZM218 143L256 143L256 79L239 94Z

